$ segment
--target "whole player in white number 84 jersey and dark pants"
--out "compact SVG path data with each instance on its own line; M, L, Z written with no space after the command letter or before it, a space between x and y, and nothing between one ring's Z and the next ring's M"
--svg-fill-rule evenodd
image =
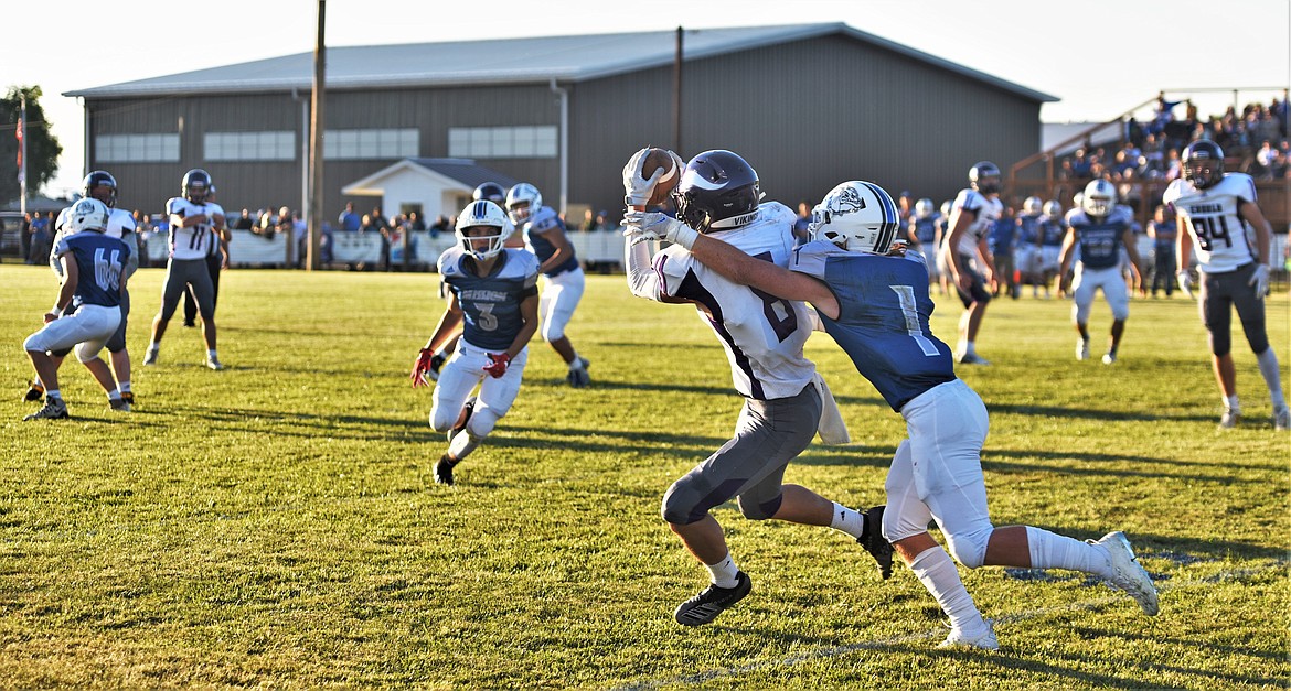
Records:
M1184 179L1166 188L1163 202L1179 219L1176 258L1179 287L1192 297L1188 262L1197 250L1201 272L1201 316L1210 334L1211 365L1224 396L1220 427L1234 427L1242 416L1237 400L1237 366L1229 329L1233 308L1259 362L1273 401L1273 428L1291 429L1291 409L1282 394L1278 356L1264 324L1264 295L1269 291L1272 227L1255 196L1255 183L1245 173L1224 173L1224 151L1210 141L1188 144L1183 156ZM1255 246L1246 236L1255 232Z

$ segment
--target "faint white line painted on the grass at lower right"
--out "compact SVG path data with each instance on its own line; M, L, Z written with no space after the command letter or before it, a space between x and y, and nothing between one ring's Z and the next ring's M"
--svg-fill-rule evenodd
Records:
M1190 579L1190 580L1168 580L1161 583L1157 588L1158 593L1164 593L1168 590L1179 590L1183 588L1194 588L1198 585L1215 585L1216 583L1223 583L1234 579L1250 579L1252 576L1264 574L1273 570L1286 570L1288 562L1278 560L1273 566L1263 569L1234 569L1232 571L1220 571L1219 574L1212 574L1210 576ZM1030 619L1039 619L1043 616L1050 616L1053 614L1078 611L1078 610L1093 610L1104 605L1110 605L1113 602L1119 602L1127 599L1128 596L1115 594L1108 597L1100 597L1097 599L1087 599L1084 602L1073 602L1072 605L1064 605L1060 607L1044 607L1041 610L1030 610L1016 614L1004 614L990 618L993 621L999 624L1016 624L1019 621L1026 621ZM812 650L799 655L793 655L789 657L781 657L778 660L762 660L757 663L749 663L738 667L728 667L719 669L710 669L707 672L697 672L695 674L686 674L684 677L673 677L667 679L646 679L635 683L616 687L615 691L646 691L649 688L661 688L664 686L674 685L702 685L713 679L719 679L722 677L736 677L749 672L759 672L768 668L780 667L793 667L799 663L806 663L808 660L820 660L828 657L838 657L840 655L848 655L851 652L857 652L862 650L880 650L891 646L899 646L902 643L913 643L918 641L926 641L928 638L939 638L945 636L946 628L939 627L936 629L928 629L922 633L910 633L905 636L896 636L892 638L880 638L877 641L862 641L860 643L851 643L847 646L834 646L828 648Z

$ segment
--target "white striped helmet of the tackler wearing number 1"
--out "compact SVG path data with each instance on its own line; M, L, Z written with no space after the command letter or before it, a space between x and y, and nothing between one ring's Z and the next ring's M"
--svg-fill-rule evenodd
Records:
M886 254L901 214L882 187L851 180L829 191L812 209L812 240L829 240L848 251Z

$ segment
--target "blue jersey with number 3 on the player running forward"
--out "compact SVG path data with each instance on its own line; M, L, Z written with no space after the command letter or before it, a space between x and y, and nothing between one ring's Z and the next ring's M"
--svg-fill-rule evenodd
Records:
M501 352L511 347L524 320L520 303L537 294L538 259L520 249L505 249L488 276L466 267L474 258L460 246L439 255L439 275L462 308L462 338L476 348Z

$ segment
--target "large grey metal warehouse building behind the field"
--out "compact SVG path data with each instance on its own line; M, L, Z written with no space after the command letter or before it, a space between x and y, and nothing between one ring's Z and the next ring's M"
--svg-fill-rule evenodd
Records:
M112 171L124 208L160 210L190 168L230 209L301 208L312 59L70 92L85 103L86 168ZM617 218L624 161L647 144L737 151L790 206L852 178L941 200L975 161L1007 169L1038 151L1052 101L842 23L329 48L323 218L347 201L452 215L491 171L571 218ZM436 160L471 173L434 173Z

